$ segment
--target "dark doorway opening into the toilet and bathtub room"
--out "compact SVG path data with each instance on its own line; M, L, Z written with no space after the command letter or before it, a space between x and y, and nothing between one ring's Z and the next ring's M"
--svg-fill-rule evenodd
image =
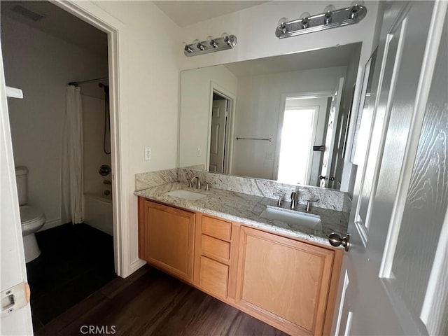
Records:
M34 17L38 20L30 18L32 13L40 15ZM118 232L113 209L118 205L112 194L118 192L113 190L111 171L117 163L111 160L116 155L111 138L117 134L111 134L109 120L113 83L108 80L108 39L104 31L49 1L1 2L6 81L24 92L24 99L8 102L16 174L22 176L25 192L20 205L43 214L38 217L43 227L32 232L38 249L27 260L35 328L116 277L120 251L113 237ZM76 94L73 100L69 90ZM76 116L69 115L69 102ZM72 133L73 125L77 131ZM64 138L69 139L67 146ZM76 145L73 139L78 140ZM73 165L73 158L82 160ZM64 164L70 169L64 169ZM109 173L103 176L105 170ZM69 202L64 216L62 178L69 171L82 172L80 178L68 176L68 184L81 193ZM76 214L73 204L79 210ZM22 211L21 219L24 232L28 222ZM24 245L27 255L25 238Z

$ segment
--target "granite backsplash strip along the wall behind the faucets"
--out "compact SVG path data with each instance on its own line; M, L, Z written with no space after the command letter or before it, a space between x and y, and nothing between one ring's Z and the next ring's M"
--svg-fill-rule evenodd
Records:
M144 190L178 181L186 183L194 176L199 176L203 186L205 186L205 183L209 183L211 188L271 199L277 199L278 195L281 194L285 202L289 202L290 193L297 188L299 190L299 204L307 204L307 200L318 200L318 202L313 202L314 207L342 211L344 213L349 213L351 208L349 197L346 193L342 193L339 190L311 186L293 186L277 183L276 181L216 174L185 168L136 174L135 190Z

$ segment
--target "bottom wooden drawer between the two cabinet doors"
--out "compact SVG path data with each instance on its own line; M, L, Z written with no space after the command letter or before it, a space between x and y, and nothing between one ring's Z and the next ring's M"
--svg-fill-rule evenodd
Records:
M219 297L227 297L228 265L201 256L200 287Z

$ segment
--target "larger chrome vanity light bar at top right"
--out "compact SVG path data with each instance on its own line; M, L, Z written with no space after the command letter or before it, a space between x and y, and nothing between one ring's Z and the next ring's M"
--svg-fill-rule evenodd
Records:
M325 13L311 15L306 18L279 22L275 29L275 36L286 38L313 33L314 31L353 25L363 20L366 14L367 8L360 4L337 10L328 10Z

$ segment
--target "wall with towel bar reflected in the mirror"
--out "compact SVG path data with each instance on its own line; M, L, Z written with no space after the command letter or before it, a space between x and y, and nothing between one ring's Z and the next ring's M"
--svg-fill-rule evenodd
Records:
M239 78L235 137L272 138L272 142L234 141L232 174L274 179L282 94L332 92L339 78L345 76L346 66L337 66Z

